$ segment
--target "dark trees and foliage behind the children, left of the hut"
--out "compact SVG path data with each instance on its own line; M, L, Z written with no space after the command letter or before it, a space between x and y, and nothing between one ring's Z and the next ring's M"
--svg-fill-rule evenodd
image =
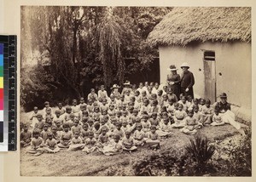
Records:
M25 111L87 97L113 83L159 82L148 34L172 8L22 7L20 103Z

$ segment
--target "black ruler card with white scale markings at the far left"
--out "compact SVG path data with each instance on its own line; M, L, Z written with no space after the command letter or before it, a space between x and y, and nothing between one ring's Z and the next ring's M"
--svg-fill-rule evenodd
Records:
M3 116L3 143L0 143L0 151L16 151L16 59L17 37L0 36L3 44L3 64L0 65L0 89L3 88L3 99L0 99L0 115ZM3 66L3 68L1 67ZM2 95L2 94L1 94ZM2 98L2 97L1 97ZM3 114L1 108L3 107ZM0 116L0 117L1 117ZM1 119L1 118L0 118Z

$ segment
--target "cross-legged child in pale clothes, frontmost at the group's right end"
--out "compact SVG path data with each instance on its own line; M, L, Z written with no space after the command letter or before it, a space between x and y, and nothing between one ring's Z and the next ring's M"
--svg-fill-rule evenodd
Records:
M199 128L199 123L196 122L195 117L193 117L194 111L189 111L189 117L184 119L185 126L181 128L180 131L184 134L195 134Z

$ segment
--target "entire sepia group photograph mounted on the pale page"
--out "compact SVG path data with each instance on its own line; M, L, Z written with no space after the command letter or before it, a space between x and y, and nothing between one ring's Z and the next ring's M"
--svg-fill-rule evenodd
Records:
M20 176L252 176L250 7L20 6Z

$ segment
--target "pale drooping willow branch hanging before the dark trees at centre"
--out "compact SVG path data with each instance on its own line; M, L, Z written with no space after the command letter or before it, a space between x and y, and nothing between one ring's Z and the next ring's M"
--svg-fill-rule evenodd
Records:
M116 77L119 82L124 82L125 63L121 54L124 31L116 19L117 17L108 14L96 28L100 46L99 58L107 86L110 86Z

